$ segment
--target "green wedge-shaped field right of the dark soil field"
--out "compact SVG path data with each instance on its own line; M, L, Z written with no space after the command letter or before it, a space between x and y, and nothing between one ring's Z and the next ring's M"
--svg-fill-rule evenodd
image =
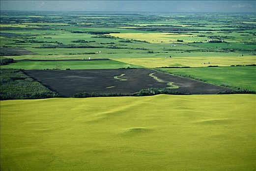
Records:
M172 74L190 75L215 85L256 90L256 66L161 68Z

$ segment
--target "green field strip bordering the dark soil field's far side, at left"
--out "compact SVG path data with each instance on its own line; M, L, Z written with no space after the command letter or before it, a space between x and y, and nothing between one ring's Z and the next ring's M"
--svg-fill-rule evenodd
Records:
M132 64L125 64L113 60L104 61L21 61L8 65L2 65L1 68L13 69L118 69L126 67L140 67Z

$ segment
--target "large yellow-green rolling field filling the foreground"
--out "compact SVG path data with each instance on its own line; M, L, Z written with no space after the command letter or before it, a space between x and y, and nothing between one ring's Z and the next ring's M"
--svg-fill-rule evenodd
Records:
M0 169L253 171L255 103L252 94L1 101Z

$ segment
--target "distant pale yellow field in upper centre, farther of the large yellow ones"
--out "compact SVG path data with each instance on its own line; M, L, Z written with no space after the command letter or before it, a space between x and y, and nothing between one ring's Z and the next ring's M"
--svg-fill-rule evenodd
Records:
M184 43L194 42L195 40L190 38L196 37L193 35L173 34L173 33L111 33L114 37L123 39L136 39L146 41L149 43L171 43L176 42L177 39L184 40ZM188 39L189 38L189 39Z

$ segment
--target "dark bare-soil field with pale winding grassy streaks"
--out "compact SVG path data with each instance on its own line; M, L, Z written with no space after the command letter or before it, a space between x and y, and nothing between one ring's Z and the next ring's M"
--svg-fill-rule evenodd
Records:
M65 97L72 97L82 92L132 94L142 88L169 87L167 83L158 82L150 77L150 73L155 73L154 76L163 81L173 82L173 85L179 87L173 91L181 93L216 94L219 91L228 90L221 86L149 69L25 70L24 72ZM122 74L125 75L120 76Z

